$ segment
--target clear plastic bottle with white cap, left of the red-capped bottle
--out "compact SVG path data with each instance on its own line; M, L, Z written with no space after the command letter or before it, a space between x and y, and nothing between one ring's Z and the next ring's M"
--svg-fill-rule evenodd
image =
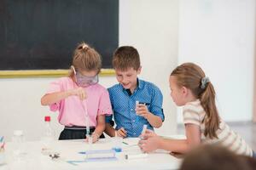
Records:
M15 159L20 160L22 155L24 155L24 143L25 143L25 138L23 135L23 132L21 130L15 130L14 131L14 136L12 137L12 142L14 144L13 147L13 155Z

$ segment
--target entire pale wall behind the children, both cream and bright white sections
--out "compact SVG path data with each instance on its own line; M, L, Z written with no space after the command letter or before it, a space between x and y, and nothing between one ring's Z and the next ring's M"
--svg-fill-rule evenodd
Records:
M175 133L176 120L181 122L168 87L177 62L196 62L206 71L225 121L251 120L254 25L255 0L119 1L119 45L138 49L140 77L157 84L164 94L166 122L158 133ZM54 79L0 79L0 135L10 139L13 130L22 129L26 139L39 139L45 115L52 116L59 134L57 114L40 105ZM116 80L101 77L100 83L108 88Z

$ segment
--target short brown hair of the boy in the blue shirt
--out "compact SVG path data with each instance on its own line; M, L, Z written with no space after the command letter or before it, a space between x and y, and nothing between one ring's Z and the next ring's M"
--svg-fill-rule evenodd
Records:
M113 69L119 71L127 71L129 68L137 71L141 66L137 49L131 46L117 48L113 53L112 65Z

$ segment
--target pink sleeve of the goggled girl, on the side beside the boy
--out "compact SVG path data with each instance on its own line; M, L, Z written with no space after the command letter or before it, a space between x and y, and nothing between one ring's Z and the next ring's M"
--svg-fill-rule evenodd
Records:
M108 90L104 89L99 103L98 115L111 115L112 107L109 99Z

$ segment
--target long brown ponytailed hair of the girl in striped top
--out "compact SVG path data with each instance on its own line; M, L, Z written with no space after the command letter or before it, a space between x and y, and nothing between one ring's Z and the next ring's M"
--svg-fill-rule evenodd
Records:
M201 80L206 77L201 67L193 63L184 63L177 66L171 76L176 77L178 87L189 88L195 98L201 100L201 105L207 114L203 119L206 126L204 135L209 136L210 139L218 138L216 131L220 120L215 105L215 90L211 82L207 82L206 86L201 88Z

